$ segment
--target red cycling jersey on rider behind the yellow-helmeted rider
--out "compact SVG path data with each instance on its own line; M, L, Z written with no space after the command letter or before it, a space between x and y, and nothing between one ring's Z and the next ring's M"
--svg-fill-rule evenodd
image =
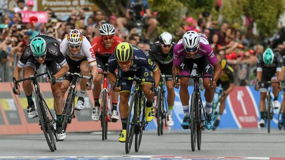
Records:
M95 37L93 39L91 46L94 50L94 53L96 53L96 54L101 54L101 55L102 54L112 54L115 51L115 47L121 42L123 42L123 41L119 37L114 36L113 44L112 44L111 48L107 50L104 47L104 44L102 42L102 37L100 36L100 37Z

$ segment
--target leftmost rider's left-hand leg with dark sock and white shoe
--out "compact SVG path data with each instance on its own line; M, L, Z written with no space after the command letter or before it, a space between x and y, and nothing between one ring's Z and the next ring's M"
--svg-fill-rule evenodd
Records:
M35 67L25 66L23 68L24 78L28 78L30 75L35 74L35 71L36 71ZM25 92L25 95L28 101L28 106L27 106L28 117L34 118L37 116L37 113L36 113L35 105L33 101L33 86L32 86L31 80L23 81L23 90Z

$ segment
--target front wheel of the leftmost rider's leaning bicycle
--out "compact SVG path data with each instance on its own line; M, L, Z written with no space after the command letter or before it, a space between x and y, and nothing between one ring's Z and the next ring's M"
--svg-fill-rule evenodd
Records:
M52 152L55 152L56 148L56 142L55 142L55 137L54 133L52 131L48 111L47 111L47 106L45 104L44 99L42 98L41 95L36 95L36 103L37 103L37 109L38 109L38 114L39 114L39 120L41 123L41 128L44 132L45 138L47 140L47 143L49 145L49 148Z

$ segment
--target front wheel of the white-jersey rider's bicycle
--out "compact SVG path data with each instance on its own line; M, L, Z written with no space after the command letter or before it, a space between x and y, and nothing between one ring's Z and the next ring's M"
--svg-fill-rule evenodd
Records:
M74 89L70 89L70 92L68 93L67 99L66 99L64 107L63 107L62 129L64 131L66 131L67 124L71 122L71 119L73 117L73 115L72 115L72 107L73 107L73 103L74 103L73 91L74 91Z

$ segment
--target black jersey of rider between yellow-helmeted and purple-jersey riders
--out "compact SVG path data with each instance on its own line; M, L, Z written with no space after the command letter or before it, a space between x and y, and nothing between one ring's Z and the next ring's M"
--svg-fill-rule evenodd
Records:
M173 48L175 43L172 42L172 47L169 53L163 53L160 43L156 42L151 46L151 50L149 52L149 58L154 62L159 62L162 64L169 64L173 60Z

